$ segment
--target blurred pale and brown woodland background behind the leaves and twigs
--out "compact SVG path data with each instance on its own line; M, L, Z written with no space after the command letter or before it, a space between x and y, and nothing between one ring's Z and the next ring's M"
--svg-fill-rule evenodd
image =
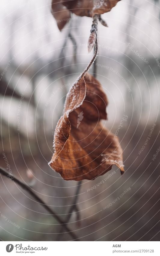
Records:
M0 2L0 165L8 164L66 220L77 182L64 181L48 162L66 94L93 56L87 51L92 19L73 15L60 32L51 1ZM115 134L127 116L117 131L125 173L115 166L94 181L83 180L68 226L82 241L158 241L160 2L122 0L102 17L108 28L99 23L98 57L89 72L108 96L107 128ZM0 239L72 238L0 175Z

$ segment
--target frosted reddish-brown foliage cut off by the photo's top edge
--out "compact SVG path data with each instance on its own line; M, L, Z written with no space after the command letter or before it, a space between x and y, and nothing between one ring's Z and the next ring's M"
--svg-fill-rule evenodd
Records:
M110 11L121 0L52 0L52 13L59 30L65 26L71 17L71 12L78 16L93 17ZM104 26L107 24L101 20Z

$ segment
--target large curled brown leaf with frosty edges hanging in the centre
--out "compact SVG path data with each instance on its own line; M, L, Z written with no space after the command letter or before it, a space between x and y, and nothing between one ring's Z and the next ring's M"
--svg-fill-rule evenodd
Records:
M54 135L55 152L49 163L65 180L92 180L113 164L124 172L122 149L101 123L107 119L107 97L101 84L83 74L71 87Z

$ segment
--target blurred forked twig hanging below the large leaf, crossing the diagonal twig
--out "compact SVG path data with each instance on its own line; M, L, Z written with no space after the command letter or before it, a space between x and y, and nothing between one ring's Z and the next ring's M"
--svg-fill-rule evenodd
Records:
M77 200L78 200L78 196L79 196L79 191L80 191L80 187L81 187L81 184L82 184L82 181L79 181L78 184L77 184L77 188L76 188L76 193L75 193L75 196L74 196L74 199L73 199L73 202L72 202L72 205L67 213L67 218L65 219L65 222L68 223L71 216L72 216L72 213L74 211L74 209L77 210L77 215L78 215L78 207L77 207ZM79 215L77 217L79 219ZM59 231L59 234L57 235L57 239L56 241L59 241L59 238L62 234L62 231L63 231L63 227L60 229Z

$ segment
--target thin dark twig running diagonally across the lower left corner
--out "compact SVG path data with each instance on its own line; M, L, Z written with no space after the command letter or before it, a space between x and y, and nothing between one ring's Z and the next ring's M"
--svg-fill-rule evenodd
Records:
M75 240L75 241L79 241L79 239L77 238L77 236L74 234L73 231L71 231L71 229L68 228L67 223L65 223L53 210L50 209L50 207L48 207L47 204L44 203L44 201L39 198L33 191L32 189L26 185L25 183L21 182L20 180L18 180L17 178L15 178L13 175L11 175L10 173L6 172L2 167L0 167L0 173L2 175L4 175L5 177L9 178L10 180L12 180L13 182L17 183L18 185L20 185L24 190L28 191L29 194L31 194L61 225L63 225L64 229L71 235L71 237Z

